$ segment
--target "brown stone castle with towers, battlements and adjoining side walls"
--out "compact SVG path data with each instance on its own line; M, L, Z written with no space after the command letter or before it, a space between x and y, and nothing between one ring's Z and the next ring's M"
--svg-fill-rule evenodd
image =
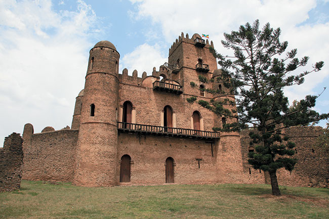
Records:
M253 150L248 131L213 132L231 118L186 100L235 102L222 84L213 82L221 71L210 47L213 42L199 34L190 38L182 33L169 50L168 63L138 77L136 70L132 76L127 69L119 74L120 55L111 42L96 43L71 128L46 127L34 134L32 124L25 124L23 179L93 187L268 183L266 172L248 164ZM201 82L200 75L208 82ZM321 127L285 130L297 143L299 162L292 172L278 171L280 185L328 187L328 158L314 146L319 133Z

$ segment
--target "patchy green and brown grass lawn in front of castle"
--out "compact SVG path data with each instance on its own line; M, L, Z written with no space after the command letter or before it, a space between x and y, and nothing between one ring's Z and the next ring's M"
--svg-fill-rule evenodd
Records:
M85 188L22 181L0 193L0 218L329 218L329 189L270 185Z

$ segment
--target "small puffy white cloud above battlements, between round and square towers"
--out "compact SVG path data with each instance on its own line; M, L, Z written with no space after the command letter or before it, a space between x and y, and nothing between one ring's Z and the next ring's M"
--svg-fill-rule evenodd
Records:
M143 71L146 71L147 75L151 75L153 67L158 68L165 62L167 62L167 57L162 56L159 45L150 46L144 43L121 59L120 69L122 70L122 66L127 68L130 75L136 69L138 76L141 77Z

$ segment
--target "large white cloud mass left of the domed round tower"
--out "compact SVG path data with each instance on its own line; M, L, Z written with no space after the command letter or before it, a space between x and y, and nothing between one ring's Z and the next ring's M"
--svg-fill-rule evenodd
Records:
M83 1L55 12L51 1L0 3L0 139L70 125L74 100L83 89L88 36L97 34L95 12Z

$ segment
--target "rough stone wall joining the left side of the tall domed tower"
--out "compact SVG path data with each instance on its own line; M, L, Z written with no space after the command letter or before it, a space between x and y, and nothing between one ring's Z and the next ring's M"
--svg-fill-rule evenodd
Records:
M78 130L24 135L23 179L71 182Z

